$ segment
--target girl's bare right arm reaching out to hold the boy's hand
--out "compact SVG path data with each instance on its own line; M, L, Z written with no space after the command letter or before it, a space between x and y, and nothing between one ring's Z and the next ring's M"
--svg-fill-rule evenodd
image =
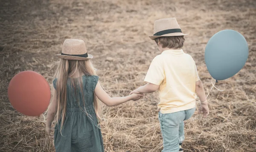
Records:
M94 90L96 96L101 100L105 105L107 106L116 106L122 103L125 103L129 100L139 100L143 97L142 94L132 94L125 97L113 97L111 98L103 89L100 83L98 82L96 84L95 90Z

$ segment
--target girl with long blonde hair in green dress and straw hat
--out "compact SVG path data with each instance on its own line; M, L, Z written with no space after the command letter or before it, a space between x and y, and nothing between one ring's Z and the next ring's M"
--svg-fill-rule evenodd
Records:
M91 54L83 40L67 39L55 73L52 100L47 110L46 132L57 120L54 132L56 152L104 152L99 129L100 107L97 98L107 106L139 100L142 94L111 98L102 89L89 59Z

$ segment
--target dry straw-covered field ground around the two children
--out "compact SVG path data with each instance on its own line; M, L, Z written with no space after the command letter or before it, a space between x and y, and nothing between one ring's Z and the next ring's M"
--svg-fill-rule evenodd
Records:
M220 81L208 97L210 115L196 112L185 122L185 152L256 151L255 0L0 0L0 152L53 152L44 117L16 112L7 97L9 81L33 70L52 85L54 54L67 38L83 39L104 88L125 96L140 85L160 52L154 21L176 17L186 36L184 52L194 58L206 93L211 76L204 62L210 37L233 29L247 40L249 58L235 76ZM103 105L106 152L160 152L157 93L120 106Z

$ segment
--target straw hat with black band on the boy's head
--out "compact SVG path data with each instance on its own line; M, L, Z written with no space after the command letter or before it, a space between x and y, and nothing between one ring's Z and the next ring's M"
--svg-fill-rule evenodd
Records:
M154 34L149 36L152 40L157 37L182 36L188 35L181 32L176 18L164 18L154 22Z

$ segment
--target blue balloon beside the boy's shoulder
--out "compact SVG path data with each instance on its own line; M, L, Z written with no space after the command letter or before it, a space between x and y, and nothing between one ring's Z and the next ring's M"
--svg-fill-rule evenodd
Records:
M243 68L248 54L248 44L243 35L227 29L210 38L204 57L210 75L215 80L225 80Z

